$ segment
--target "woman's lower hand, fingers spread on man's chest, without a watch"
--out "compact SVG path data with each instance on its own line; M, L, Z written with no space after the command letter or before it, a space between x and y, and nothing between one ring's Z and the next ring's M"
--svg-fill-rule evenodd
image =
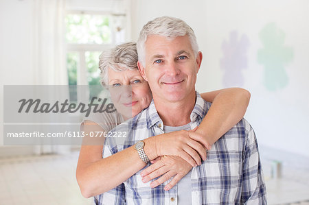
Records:
M164 190L168 191L172 189L172 187L175 186L175 184L191 169L192 166L183 160L183 158L178 156L162 156L157 158L150 167L141 171L141 180L146 183L163 175L159 179L150 183L151 188L154 188L174 176L174 178L172 178L172 180L164 187Z

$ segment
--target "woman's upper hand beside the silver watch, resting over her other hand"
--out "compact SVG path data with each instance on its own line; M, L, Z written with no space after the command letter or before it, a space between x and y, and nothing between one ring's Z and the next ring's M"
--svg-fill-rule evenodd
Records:
M144 140L146 155L150 160L163 155L179 156L192 167L201 165L201 158L206 160L206 151L210 145L203 134L195 131L181 130L147 138Z

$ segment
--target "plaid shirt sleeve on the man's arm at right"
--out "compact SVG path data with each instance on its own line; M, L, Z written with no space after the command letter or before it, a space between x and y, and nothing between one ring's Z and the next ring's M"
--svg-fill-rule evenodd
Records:
M244 121L247 142L242 164L241 204L267 204L266 186L258 152L258 142L251 125Z

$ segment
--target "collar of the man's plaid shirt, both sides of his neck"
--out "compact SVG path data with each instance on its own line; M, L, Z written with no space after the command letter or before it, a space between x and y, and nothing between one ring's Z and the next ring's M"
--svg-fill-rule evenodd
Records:
M201 95L196 92L196 101L195 106L190 114L190 119L192 122L196 121L196 117L203 117L205 116L207 110L205 109L205 101L201 97ZM155 107L155 103L152 99L148 109L147 109L147 128L150 129L153 125L163 123L162 119L160 118L157 109Z

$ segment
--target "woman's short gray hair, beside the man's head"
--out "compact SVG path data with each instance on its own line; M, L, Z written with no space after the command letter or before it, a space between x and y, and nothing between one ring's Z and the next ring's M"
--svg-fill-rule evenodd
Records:
M108 68L114 71L135 70L137 68L136 43L117 45L108 51L103 51L99 57L101 84L108 85Z

